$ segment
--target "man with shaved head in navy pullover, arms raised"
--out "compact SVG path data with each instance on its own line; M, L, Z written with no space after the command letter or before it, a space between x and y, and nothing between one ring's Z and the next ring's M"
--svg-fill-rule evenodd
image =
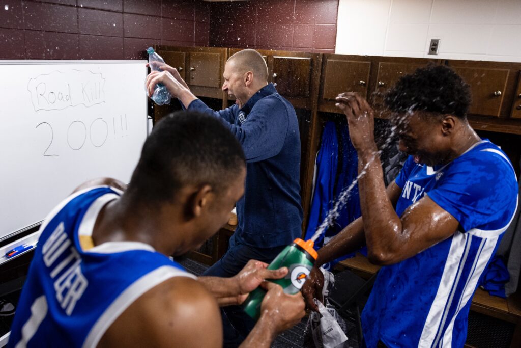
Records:
M223 77L222 90L235 97L235 104L221 111L195 97L168 65L148 75L146 88L152 95L163 83L185 109L219 118L242 145L247 174L244 196L237 202L239 225L227 253L205 272L232 277L250 259L269 263L301 236L300 134L293 106L268 84L268 67L257 51L232 55ZM253 327L237 307L227 307L223 319L225 346L239 345Z

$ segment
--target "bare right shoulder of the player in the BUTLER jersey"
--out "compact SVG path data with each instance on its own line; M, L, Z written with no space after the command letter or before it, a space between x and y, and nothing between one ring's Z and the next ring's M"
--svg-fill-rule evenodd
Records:
M212 339L220 339L213 328L221 329L218 305L212 294L193 278L173 277L137 298L114 321L100 343L166 347L176 338L173 345L208 346ZM206 331L208 337L199 337L197 330Z

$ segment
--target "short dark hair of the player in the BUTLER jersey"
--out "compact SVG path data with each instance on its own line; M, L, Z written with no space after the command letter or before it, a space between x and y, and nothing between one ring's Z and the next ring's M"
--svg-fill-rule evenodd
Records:
M214 116L179 111L163 117L146 139L128 194L157 205L173 202L183 187L230 187L245 167L241 144Z

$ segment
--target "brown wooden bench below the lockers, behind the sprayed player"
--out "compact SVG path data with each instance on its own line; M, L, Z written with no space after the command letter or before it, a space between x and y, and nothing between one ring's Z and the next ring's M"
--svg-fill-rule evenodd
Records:
M375 274L380 267L373 265L362 254L356 253L355 257L345 259L339 263L340 267L349 268L361 277L368 278ZM491 296L482 289L477 289L470 310L493 318L512 322L515 325L511 348L521 347L521 292L517 292L508 298ZM472 347L465 345L466 347Z

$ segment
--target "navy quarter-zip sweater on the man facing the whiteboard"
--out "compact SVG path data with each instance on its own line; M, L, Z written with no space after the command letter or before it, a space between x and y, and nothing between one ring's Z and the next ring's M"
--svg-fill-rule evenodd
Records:
M241 109L234 104L216 112L197 99L188 110L219 117L246 155L246 184L237 202L235 238L259 248L287 245L300 238L300 134L293 105L270 83Z

